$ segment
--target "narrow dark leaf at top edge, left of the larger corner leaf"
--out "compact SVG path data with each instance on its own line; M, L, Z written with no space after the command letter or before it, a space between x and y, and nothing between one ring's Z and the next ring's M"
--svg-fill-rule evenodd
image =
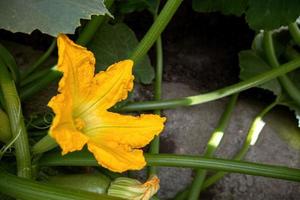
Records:
M220 11L225 15L240 16L245 12L248 0L193 0L193 9L198 12Z

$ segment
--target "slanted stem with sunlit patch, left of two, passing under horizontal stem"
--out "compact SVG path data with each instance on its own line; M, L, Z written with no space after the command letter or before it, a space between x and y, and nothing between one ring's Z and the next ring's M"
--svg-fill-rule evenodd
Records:
M218 122L217 128L214 130L210 139L208 140L207 147L206 147L206 150L203 155L204 157L211 158L215 154L215 152L223 138L224 131L229 124L230 117L233 112L233 109L234 109L237 99L238 99L238 94L234 94L233 96L231 96L230 101L228 102L228 105L226 106L226 109L223 112L223 114ZM202 187L203 181L205 180L206 173L207 173L206 170L203 170L203 169L197 170L196 176L192 183L190 193L189 193L189 196L187 199L190 199L190 200L199 199L201 187Z

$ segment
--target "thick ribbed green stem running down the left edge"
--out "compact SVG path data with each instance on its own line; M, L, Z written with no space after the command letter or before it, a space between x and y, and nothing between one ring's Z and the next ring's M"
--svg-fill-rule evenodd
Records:
M14 81L6 65L0 60L0 86L3 92L6 111L10 121L11 133L17 160L18 176L31 177L31 157L29 152L28 137L23 121L21 102Z

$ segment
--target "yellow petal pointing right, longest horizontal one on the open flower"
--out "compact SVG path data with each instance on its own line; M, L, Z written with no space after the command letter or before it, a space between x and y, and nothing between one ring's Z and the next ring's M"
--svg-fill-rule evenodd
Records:
M112 112L90 113L83 132L97 141L113 141L133 148L146 146L164 128L166 118L159 115L138 117Z

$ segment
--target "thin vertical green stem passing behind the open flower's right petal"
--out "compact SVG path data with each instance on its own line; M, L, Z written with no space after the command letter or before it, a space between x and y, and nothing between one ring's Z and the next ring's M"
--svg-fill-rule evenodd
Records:
M156 17L154 17L156 18ZM154 100L161 99L161 85L162 85L162 71L163 71L163 50L162 50L162 40L161 37L157 38L156 41L156 74L155 74L155 83L154 83ZM160 115L160 110L155 110L155 114ZM149 153L158 154L159 153L159 136L156 136L150 144ZM156 167L149 168L149 175L157 174Z

